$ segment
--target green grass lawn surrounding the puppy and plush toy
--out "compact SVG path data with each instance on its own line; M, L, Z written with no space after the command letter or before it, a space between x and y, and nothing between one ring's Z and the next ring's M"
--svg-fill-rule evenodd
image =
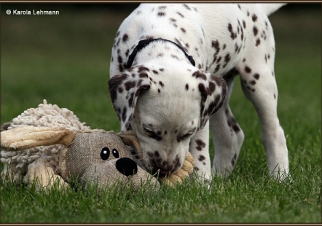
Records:
M114 35L128 12L46 7L58 8L60 16L7 16L5 10L14 6L1 5L1 124L47 99L73 110L92 128L119 131L107 81ZM258 117L236 79L230 103L245 142L234 173L214 178L211 192L194 181L157 193L119 195L114 189L103 197L1 184L1 223L321 222L320 8L286 6L271 16L278 114L292 181L279 184L267 175Z

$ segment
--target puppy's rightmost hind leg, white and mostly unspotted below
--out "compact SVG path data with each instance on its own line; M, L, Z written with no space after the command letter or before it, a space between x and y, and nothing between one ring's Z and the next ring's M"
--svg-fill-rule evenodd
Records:
M240 79L245 97L256 109L262 127L264 145L269 171L278 179L288 175L288 149L284 130L277 118L277 85L274 73L261 64L240 71ZM257 69L257 70L256 70Z

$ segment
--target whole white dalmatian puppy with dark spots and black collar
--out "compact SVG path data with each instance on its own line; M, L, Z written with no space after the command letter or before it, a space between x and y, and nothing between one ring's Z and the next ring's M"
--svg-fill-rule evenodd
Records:
M125 18L112 48L110 97L121 131L134 131L152 173L177 171L190 151L200 179L230 175L244 140L229 105L240 75L260 119L270 173L288 175L268 19L282 5L150 3Z

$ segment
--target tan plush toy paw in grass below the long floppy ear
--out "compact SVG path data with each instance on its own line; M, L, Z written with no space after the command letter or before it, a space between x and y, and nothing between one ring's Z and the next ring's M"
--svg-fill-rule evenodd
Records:
M35 182L36 191L42 188L50 189L58 184L58 188L67 187L68 184L59 175L55 175L53 168L45 166L45 162L38 160L28 166L28 172L23 178L27 186L32 186Z

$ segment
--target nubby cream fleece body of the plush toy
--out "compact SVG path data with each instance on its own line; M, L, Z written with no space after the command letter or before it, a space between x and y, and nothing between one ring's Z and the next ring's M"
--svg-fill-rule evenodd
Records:
M69 129L71 131L88 131L90 127L86 123L81 123L79 118L66 108L59 108L58 105L48 104L46 100L38 105L38 108L29 108L22 114L12 119L8 124L7 130L25 126L51 127L52 129ZM2 130L3 128L1 128ZM56 172L59 167L60 152L64 145L40 146L23 151L1 150L1 162L5 162L2 176L8 175L10 179L18 182L21 175L27 171L34 171L38 162L48 168L49 171ZM44 171L45 171L45 167ZM49 169L51 168L51 169ZM31 175L26 175L24 180L27 182ZM32 179L32 178L30 178Z

